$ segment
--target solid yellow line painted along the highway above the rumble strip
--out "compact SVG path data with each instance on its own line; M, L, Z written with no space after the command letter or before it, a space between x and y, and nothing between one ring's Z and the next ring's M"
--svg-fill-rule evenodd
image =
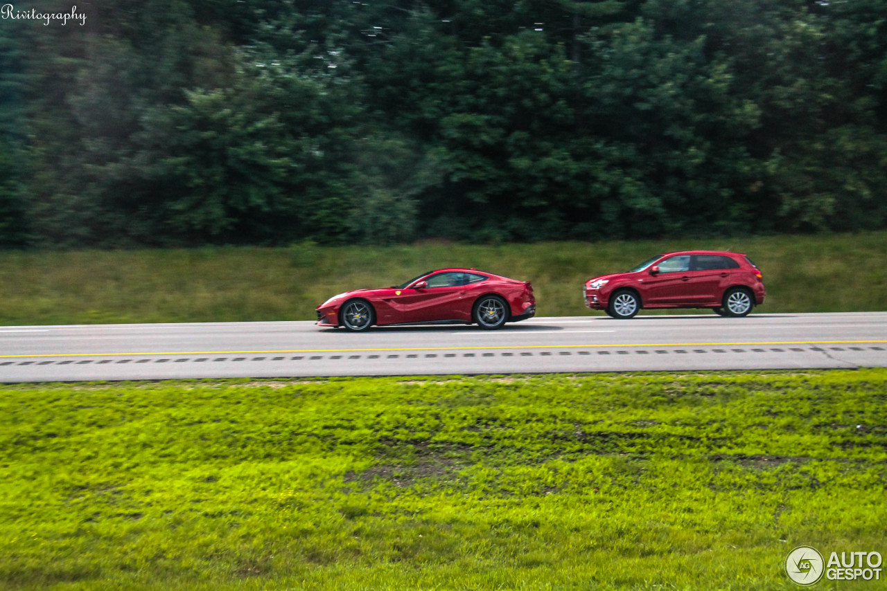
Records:
M19 354L0 355L0 359L15 359L23 357L122 357L136 355L246 355L246 354L274 354L274 353L372 353L392 351L481 351L490 349L567 349L567 348L592 348L592 347L620 347L620 346L753 346L753 345L865 345L884 344L887 340L789 340L789 341L747 341L738 343L636 343L636 344L594 344L594 345L508 345L508 346L423 346L423 347L393 347L371 349L280 349L271 351L171 351L164 353L63 353L63 354Z

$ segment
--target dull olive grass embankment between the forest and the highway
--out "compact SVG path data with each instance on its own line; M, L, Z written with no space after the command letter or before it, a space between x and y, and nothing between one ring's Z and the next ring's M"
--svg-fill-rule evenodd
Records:
M759 312L883 310L887 232L536 245L205 248L0 253L0 324L311 320L335 293L467 266L533 282L539 315L586 315L590 276L684 248L748 253L764 271Z

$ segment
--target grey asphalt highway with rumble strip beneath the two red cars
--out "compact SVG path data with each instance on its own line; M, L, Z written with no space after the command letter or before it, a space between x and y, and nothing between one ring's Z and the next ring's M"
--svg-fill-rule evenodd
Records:
M887 312L532 318L374 328L312 322L0 326L0 382L887 367Z

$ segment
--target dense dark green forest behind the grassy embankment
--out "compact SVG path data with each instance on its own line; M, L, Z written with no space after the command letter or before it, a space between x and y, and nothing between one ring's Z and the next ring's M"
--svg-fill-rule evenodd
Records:
M71 12L0 19L0 246L887 226L884 0L32 9Z

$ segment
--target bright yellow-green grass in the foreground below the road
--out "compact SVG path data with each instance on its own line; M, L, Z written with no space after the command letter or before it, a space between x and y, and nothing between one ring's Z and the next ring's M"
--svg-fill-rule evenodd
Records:
M0 587L793 589L885 482L884 369L0 385Z

